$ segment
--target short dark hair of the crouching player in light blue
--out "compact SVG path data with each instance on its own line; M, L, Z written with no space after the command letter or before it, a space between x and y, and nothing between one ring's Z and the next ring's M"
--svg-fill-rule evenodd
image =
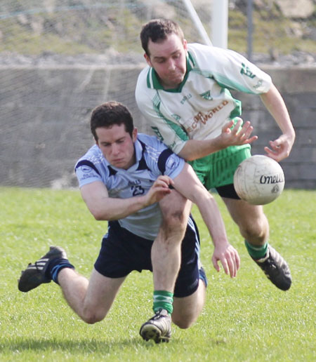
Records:
M132 137L134 125L131 112L129 112L129 109L121 103L110 100L93 109L90 119L91 133L93 134L94 139L98 141L96 128L110 128L114 124L120 126L122 123L125 126L126 132Z

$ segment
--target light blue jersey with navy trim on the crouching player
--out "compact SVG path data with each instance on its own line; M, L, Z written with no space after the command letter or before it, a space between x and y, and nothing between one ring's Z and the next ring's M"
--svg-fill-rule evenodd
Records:
M128 199L147 194L159 175L173 179L183 170L185 161L154 136L139 133L134 147L136 163L128 170L111 166L97 145L91 147L75 166L79 187L102 181L110 197ZM154 203L124 217L119 224L133 234L154 240L161 221L159 204Z

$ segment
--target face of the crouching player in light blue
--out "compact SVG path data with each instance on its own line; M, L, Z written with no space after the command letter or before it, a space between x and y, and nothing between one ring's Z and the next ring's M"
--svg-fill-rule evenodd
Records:
M114 124L112 127L96 128L98 147L114 167L124 168L127 170L136 162L134 142L137 138L137 129L134 128L132 137L126 132L124 124L118 126Z

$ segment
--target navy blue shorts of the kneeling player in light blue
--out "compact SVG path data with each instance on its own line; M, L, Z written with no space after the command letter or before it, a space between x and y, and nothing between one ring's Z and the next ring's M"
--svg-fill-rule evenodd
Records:
M107 234L103 237L100 253L94 267L97 272L109 278L127 276L133 270L152 271L150 252L152 240L143 239L110 221ZM199 285L199 232L192 217L181 246L181 265L175 297L187 297L195 293Z

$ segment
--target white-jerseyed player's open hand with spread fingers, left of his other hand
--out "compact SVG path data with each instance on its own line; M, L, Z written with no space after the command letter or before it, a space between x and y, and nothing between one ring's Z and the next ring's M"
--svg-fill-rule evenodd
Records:
M220 142L223 142L223 148L229 146L240 146L252 143L258 139L258 136L251 136L254 127L249 121L246 121L242 126L242 119L239 118L234 126L234 121L225 123L220 134Z

